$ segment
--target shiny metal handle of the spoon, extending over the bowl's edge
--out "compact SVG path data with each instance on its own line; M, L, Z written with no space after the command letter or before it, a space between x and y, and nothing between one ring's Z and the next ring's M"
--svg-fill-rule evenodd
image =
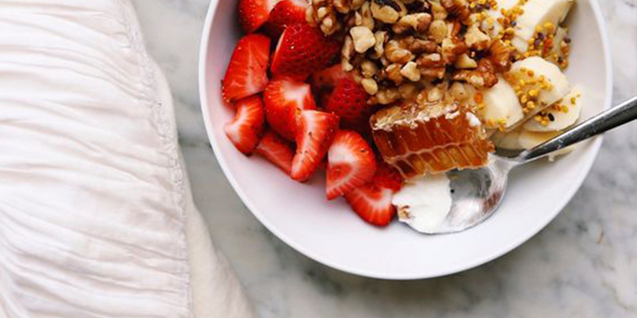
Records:
M541 158L553 151L589 139L594 135L601 134L635 119L637 119L637 97L626 100L619 106L608 109L580 123L550 141L520 153L518 160L524 163Z

